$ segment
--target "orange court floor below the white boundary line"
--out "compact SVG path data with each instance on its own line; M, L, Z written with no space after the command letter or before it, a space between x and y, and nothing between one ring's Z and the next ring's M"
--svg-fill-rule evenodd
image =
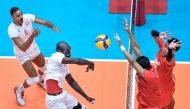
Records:
M21 84L27 75L15 58L0 58L0 66L0 109L46 109L45 92L37 85L26 90L26 105L18 106L13 88ZM82 104L85 104L88 109L124 109L126 66L125 61L95 61L95 71L85 72L85 66L70 65L71 73L82 89L96 99L93 105L74 92L67 83L65 89ZM189 71L190 64L188 63L179 63L174 69L177 80L174 94L175 109L190 109Z

